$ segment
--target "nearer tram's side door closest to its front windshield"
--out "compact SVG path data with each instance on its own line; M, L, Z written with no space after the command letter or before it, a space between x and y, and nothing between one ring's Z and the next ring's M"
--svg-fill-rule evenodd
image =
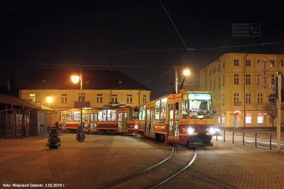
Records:
M178 139L179 136L179 106L178 104L168 104L168 139Z

